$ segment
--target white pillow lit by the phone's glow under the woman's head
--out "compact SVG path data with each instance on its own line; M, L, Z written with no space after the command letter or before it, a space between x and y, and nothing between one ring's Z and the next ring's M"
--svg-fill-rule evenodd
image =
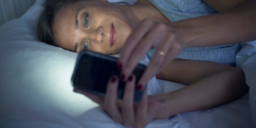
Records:
M78 53L35 40L39 2L21 18L0 26L1 128L124 128L84 95L73 93ZM148 126L190 128L177 115Z

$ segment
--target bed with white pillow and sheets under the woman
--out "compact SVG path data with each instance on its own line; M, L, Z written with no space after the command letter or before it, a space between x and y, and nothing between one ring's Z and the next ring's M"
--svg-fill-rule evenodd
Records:
M97 104L73 92L78 53L36 40L40 2L0 26L0 128L123 128ZM250 86L245 95L215 108L154 119L146 127L256 128L256 42L243 45L236 57ZM185 86L156 82L163 92Z

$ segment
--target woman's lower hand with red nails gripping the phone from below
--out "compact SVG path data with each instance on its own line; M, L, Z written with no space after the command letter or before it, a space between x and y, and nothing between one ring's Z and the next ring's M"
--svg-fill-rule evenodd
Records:
M140 102L133 102L135 89L134 75L131 75L126 82L125 92L121 102L117 101L118 83L117 76L109 79L105 97L81 90L74 91L92 99L102 106L115 122L122 123L124 126L143 128L149 121L156 118L160 110L160 104L155 99L149 98L146 90Z

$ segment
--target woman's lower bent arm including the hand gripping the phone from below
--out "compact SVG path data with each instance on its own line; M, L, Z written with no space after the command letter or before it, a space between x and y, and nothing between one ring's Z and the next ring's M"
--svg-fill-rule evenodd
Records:
M81 90L74 91L86 95L102 106L115 122L121 122L124 126L143 128L155 118L224 104L240 97L248 89L245 85L243 71L239 68L212 62L187 60L177 60L168 66L171 69L171 75L168 78L177 81L181 79L182 83L190 83L189 79L199 80L190 86L162 95L147 96L147 91L145 91L141 101L135 104L133 102L136 81L134 75L131 75L126 82L122 102L117 101L119 83L117 76L110 78L105 97ZM210 70L205 70L208 68ZM177 73L178 77L171 73L179 69L185 71ZM169 73L163 72L163 74Z

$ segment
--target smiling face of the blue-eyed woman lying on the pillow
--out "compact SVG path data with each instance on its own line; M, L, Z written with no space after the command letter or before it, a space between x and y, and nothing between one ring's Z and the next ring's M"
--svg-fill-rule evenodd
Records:
M76 52L119 53L132 28L121 9L104 1L85 0L60 9L53 25L57 44Z

